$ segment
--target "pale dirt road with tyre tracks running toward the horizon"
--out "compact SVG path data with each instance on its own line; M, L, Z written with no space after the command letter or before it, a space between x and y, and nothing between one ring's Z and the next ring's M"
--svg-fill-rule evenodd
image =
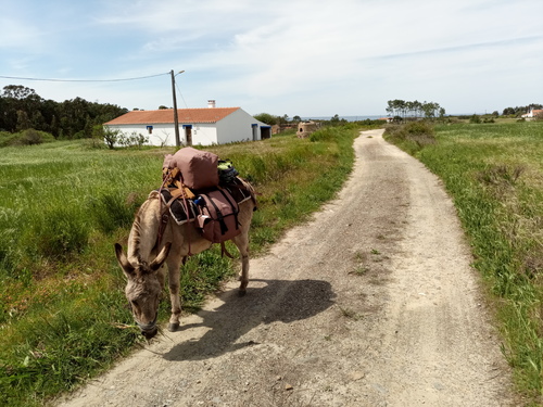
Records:
M228 284L61 405L513 405L440 181L382 130L355 150L339 199L251 260L245 297Z

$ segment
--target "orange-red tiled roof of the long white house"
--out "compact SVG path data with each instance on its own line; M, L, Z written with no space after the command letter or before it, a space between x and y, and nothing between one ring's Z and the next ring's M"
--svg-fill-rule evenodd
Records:
M236 112L238 109L240 107L178 109L177 118L179 123L216 123ZM131 111L113 120L104 123L104 125L144 125L159 123L174 123L174 110Z

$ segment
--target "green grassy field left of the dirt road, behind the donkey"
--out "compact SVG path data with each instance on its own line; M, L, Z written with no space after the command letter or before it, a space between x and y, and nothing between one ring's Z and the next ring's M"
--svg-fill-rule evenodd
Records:
M357 130L206 149L230 158L260 193L253 254L333 198L351 171ZM163 156L173 149L109 151L77 141L1 152L0 405L39 406L142 341L113 243L126 242L134 213L160 186ZM238 263L219 252L184 267L186 310L198 309L233 275ZM168 316L164 301L159 318Z

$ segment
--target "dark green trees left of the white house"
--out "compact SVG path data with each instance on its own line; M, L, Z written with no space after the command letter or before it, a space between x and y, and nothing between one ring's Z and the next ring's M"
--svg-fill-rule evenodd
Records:
M93 127L112 120L127 109L81 98L55 102L34 89L9 85L0 93L0 131L46 131L55 139L91 138Z

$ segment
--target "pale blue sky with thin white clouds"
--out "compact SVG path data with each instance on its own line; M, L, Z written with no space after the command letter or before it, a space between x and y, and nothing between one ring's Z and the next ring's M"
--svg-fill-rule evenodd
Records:
M543 103L540 0L0 0L0 89L123 107L384 115ZM161 75L162 74L162 75ZM159 76L155 76L159 75Z

